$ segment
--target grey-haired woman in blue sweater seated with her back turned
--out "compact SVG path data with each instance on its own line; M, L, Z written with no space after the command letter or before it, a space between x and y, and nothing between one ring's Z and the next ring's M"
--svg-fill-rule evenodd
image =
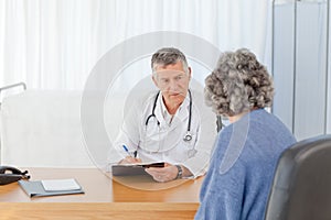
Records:
M271 77L248 50L221 55L205 79L205 101L232 122L217 138L195 219L264 219L275 167L296 142L264 108L274 96Z

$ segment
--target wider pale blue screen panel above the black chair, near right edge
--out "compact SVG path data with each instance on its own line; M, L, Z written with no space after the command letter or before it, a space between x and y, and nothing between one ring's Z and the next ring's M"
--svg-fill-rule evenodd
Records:
M295 135L324 133L327 2L297 2Z

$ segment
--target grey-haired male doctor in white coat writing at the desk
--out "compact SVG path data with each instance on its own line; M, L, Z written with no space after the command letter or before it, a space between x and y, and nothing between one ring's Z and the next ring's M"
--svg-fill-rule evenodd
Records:
M189 89L191 67L182 52L159 50L151 68L159 90L132 103L109 163L166 162L163 168L146 169L157 182L203 175L216 136L216 119L204 106L203 92Z

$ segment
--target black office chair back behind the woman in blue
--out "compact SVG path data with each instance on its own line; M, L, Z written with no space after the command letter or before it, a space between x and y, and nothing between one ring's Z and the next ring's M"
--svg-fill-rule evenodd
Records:
M298 142L282 153L265 219L331 219L331 135Z

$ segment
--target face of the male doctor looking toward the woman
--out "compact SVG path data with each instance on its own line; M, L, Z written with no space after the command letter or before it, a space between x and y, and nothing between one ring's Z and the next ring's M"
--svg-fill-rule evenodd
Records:
M191 68L185 73L182 62L159 66L153 74L156 86L162 91L167 103L181 105L188 94Z

